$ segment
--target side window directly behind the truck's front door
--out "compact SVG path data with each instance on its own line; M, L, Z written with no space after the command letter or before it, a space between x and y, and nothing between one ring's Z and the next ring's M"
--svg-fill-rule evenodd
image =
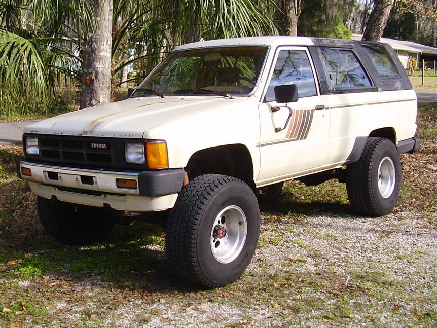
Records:
M371 86L366 71L350 50L321 48L320 58L331 90L347 90Z

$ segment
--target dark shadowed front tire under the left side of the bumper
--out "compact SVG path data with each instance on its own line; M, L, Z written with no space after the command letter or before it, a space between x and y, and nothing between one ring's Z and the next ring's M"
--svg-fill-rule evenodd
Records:
M38 196L38 215L46 232L63 244L99 241L113 229L116 218L106 208L65 203Z

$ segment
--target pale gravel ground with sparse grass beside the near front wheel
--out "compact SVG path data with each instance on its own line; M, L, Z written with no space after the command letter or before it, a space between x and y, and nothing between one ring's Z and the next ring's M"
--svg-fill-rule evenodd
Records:
M428 219L409 212L264 215L255 257L233 284L132 291L116 309L90 302L72 310L68 322L79 322L88 309L100 321L87 326L114 328L435 327L437 228ZM92 288L95 295L111 294L111 284Z

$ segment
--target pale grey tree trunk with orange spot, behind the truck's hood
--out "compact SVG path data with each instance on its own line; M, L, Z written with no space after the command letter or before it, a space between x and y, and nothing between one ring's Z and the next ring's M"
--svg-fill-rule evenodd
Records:
M111 101L111 47L113 0L89 0L94 7L95 30L82 52L81 108Z

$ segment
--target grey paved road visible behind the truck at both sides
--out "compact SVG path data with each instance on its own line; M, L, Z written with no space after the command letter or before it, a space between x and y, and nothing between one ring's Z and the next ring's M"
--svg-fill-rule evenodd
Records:
M437 90L417 92L418 102L437 101ZM23 129L36 121L0 123L0 146L21 143Z

